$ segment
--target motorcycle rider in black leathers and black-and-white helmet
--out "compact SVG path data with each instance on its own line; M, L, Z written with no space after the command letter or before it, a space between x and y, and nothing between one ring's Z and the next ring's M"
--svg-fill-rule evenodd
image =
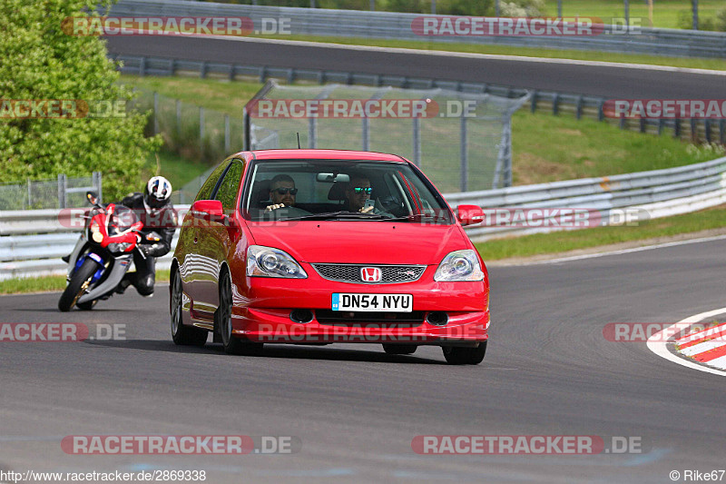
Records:
M171 201L172 183L163 176L153 176L146 183L143 193L132 193L119 203L132 209L141 222L142 240L133 252L136 272L126 272L116 292L123 293L133 285L142 296L153 295L156 258L172 250L172 238L176 231L176 212Z

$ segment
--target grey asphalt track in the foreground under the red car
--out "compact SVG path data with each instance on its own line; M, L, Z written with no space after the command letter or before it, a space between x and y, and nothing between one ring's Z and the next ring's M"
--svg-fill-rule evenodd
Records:
M726 241L493 267L485 361L379 345L176 347L165 286L93 311L58 294L0 298L6 322L125 324L126 341L2 342L0 469L205 469L207 482L672 482L724 469L724 380L611 342L614 321L680 321L723 307ZM67 435L295 436L291 455L77 456ZM417 435L641 437L641 454L418 455ZM682 480L679 480L682 481Z

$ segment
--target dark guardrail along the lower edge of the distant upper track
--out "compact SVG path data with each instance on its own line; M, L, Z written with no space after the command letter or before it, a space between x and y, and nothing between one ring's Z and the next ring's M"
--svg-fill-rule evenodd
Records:
M529 107L532 113L549 111L552 114L572 114L577 119L589 117L599 121L608 120L603 113L605 98L580 94L564 94L553 91L525 90L496 84L462 83L440 79L426 79L399 75L361 74L345 71L325 71L316 69L297 69L270 67L267 65L221 64L203 61L187 61L139 55L112 55L113 60L121 61L124 74L137 75L195 75L201 78L217 77L230 80L254 78L265 83L269 79L294 82L314 82L318 84L361 84L409 89L448 89L475 94L494 94L503 97L521 97L531 93ZM610 119L622 129L640 133L672 133L676 138L692 142L726 143L726 122L723 119ZM245 147L247 149L247 147Z

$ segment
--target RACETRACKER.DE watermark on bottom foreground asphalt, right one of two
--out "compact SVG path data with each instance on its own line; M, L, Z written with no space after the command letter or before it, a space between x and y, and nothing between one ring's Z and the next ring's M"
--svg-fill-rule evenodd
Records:
M427 455L642 454L643 438L597 435L417 435L411 449Z

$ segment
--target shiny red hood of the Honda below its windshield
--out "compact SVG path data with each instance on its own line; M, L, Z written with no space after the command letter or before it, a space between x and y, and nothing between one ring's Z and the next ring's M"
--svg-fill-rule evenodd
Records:
M437 264L470 248L461 228L412 222L250 223L254 243L288 252L299 262Z

